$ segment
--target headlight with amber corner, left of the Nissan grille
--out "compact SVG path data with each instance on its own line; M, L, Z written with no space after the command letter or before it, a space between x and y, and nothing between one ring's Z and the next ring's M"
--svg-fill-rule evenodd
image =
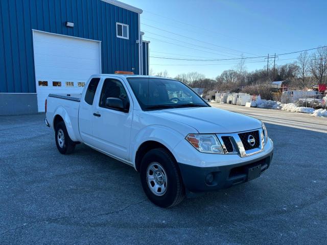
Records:
M224 154L221 144L214 134L189 134L185 139L199 152Z

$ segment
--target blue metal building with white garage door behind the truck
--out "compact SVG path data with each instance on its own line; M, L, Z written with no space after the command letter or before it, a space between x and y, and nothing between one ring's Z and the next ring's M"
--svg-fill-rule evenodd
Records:
M44 110L94 73L148 75L141 9L115 0L0 1L0 115Z

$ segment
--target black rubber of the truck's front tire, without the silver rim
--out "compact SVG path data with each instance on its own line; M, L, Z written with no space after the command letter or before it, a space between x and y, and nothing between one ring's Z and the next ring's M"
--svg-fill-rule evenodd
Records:
M167 175L167 190L164 195L157 196L155 195L149 188L147 183L147 168L152 162L159 163L166 171ZM154 149L149 151L142 159L141 163L141 182L142 187L147 195L147 197L156 205L160 207L169 207L173 204L176 194L177 194L177 178L179 176L178 173L176 173L176 169L173 166L174 161L173 159L166 153L164 153L162 150Z

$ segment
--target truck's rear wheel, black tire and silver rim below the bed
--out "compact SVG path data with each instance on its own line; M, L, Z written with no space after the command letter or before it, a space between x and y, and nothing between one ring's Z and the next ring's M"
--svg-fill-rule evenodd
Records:
M76 143L69 138L65 123L59 122L56 126L55 141L57 149L61 154L71 154L76 146Z

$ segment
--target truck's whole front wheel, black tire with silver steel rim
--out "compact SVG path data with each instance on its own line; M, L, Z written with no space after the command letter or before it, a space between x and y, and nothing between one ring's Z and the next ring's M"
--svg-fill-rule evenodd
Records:
M155 205L169 208L184 199L185 188L177 163L166 149L147 152L141 161L140 175L143 190Z

